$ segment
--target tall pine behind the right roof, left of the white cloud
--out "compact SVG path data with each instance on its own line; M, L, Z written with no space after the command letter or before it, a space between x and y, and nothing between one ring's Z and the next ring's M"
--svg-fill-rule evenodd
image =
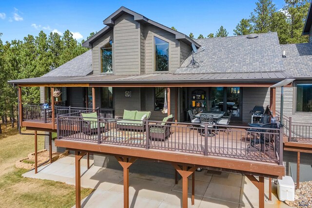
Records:
M268 33L271 29L272 16L276 12L275 4L272 0L258 0L256 8L251 13L255 33Z

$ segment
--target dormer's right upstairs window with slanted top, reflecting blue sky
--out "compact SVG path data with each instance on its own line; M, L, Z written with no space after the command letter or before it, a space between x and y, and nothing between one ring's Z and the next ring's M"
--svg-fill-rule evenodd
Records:
M155 71L164 72L169 69L169 43L154 37L155 40Z

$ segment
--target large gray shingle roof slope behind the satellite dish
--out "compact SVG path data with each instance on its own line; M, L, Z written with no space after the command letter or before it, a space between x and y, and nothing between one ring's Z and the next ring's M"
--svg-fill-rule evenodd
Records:
M187 67L188 57L176 73L234 73L283 71L277 33L259 34L258 38L233 36L196 40L205 47L194 55L198 68ZM198 49L198 51L200 51Z

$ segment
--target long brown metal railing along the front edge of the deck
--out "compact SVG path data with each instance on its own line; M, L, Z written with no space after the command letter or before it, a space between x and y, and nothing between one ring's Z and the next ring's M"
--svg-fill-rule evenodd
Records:
M283 129L57 116L58 139L282 164Z

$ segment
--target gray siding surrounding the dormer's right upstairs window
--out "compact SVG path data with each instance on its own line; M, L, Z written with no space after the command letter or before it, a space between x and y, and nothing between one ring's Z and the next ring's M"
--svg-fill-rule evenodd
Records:
M155 71L154 36L169 42L169 72L175 72L180 67L180 41L175 35L152 25L145 26L145 35L145 72Z

